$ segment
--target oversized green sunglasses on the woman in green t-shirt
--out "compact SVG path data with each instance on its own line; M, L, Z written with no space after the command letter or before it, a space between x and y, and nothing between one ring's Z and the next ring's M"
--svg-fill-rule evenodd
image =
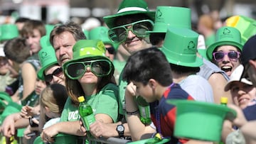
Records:
M112 70L111 62L108 60L91 60L87 62L70 62L65 67L65 74L70 79L80 79L87 71L87 67L90 67L90 71L97 77L104 77L110 74Z

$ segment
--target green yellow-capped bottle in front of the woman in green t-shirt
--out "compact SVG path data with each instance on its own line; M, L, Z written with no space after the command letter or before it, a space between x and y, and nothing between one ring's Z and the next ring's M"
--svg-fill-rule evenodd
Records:
M86 103L84 96L79 96L78 101L80 103L78 106L78 111L80 117L82 118L82 123L84 124L86 131L90 131L90 124L95 122L92 107Z

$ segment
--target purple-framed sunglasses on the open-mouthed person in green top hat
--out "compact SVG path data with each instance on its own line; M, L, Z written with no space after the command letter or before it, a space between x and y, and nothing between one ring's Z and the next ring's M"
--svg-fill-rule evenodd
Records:
M240 57L240 52L230 51L230 52L213 52L213 57L216 62L221 62L225 55L228 55L229 59L237 62Z

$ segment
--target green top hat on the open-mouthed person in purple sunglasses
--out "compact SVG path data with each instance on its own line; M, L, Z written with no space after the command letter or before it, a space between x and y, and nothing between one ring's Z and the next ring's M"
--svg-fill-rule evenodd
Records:
M211 44L206 52L209 60L213 59L215 48L222 45L233 45L242 51L241 34L238 29L229 26L223 26L218 29L215 43Z

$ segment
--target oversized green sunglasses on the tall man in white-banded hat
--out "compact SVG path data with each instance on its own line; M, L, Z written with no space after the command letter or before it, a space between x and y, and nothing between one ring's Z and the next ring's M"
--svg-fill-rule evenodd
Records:
M131 26L131 28L127 28L127 26ZM139 38L144 38L149 36L149 33L146 32L152 31L153 26L154 23L151 20L136 21L127 25L111 28L108 31L108 35L110 40L112 40L114 43L123 43L127 39L129 31L132 31L132 33L137 35Z

